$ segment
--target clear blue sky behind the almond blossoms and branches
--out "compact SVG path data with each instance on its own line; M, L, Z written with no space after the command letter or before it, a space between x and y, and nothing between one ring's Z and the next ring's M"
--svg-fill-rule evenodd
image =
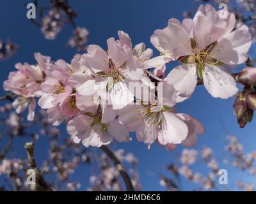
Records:
M39 1L40 2L40 1ZM19 51L8 61L0 61L0 82L2 83L10 71L13 71L14 64L17 62L29 62L33 64L34 52L41 52L44 55L50 55L52 60L64 59L70 62L76 50L68 48L67 40L72 35L72 27L67 25L54 41L45 40L40 29L31 24L26 18L26 1L3 1L0 0L0 39L10 38L10 40L19 44ZM156 29L166 26L169 18L175 17L182 20L182 11L195 11L198 4L187 0L77 0L70 3L74 11L78 13L76 24L86 27L90 31L90 44L97 44L106 48L106 40L112 36L117 38L117 31L122 30L128 33L132 38L133 45L143 41L147 47L154 50L154 55L158 55L157 50L150 44L150 35ZM255 56L254 56L255 57ZM173 67L173 65L171 65ZM170 70L170 67L168 67ZM239 68L234 69L235 71ZM3 88L0 89L0 95L4 95ZM204 86L196 87L191 99L178 105L178 111L188 113L196 117L205 126L205 134L198 137L195 149L200 149L202 145L211 147L214 156L220 161L220 168L227 168L229 186L236 189L237 179L243 179L245 182L252 182L252 177L241 171L230 170L230 167L222 163L223 157L227 156L224 145L227 142L228 134L236 135L243 143L244 149L250 151L255 149L255 119L247 124L244 129L240 129L236 123L236 117L232 110L234 98L228 100L212 98ZM60 126L61 131L65 133L65 126ZM132 135L134 137L134 135ZM15 143L19 155L25 157L22 149L28 139L19 140ZM41 145L44 138L40 138L36 149L36 157L42 160L47 146ZM140 172L140 181L143 190L163 190L159 186L159 173L168 175L164 170L166 164L174 161L175 156L180 154L183 147L178 147L173 152L167 152L163 147L156 144L148 151L147 145L139 143L136 138L131 143L115 143L116 149L124 148L127 152L133 152L139 159L138 171ZM197 164L196 170L205 173L206 168L203 164ZM88 175L90 169L87 167L79 168L72 176L74 180L80 180L83 189L88 185ZM185 182L182 182L185 184ZM183 186L182 189L189 190L193 185Z

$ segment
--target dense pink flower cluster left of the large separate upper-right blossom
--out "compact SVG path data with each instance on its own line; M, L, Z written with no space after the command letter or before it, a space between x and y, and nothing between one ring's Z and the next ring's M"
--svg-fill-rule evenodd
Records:
M88 53L75 55L70 64L40 54L35 54L36 65L17 64L18 71L4 82L6 91L19 96L13 102L17 112L28 107L28 119L33 120L39 97L49 121L55 126L67 121L72 140L86 147L107 145L113 138L129 142L129 131L148 148L155 141L168 150L179 143L193 145L204 127L176 113L179 97L171 84L157 77L157 86L152 84L154 73L147 70L152 50L144 43L132 47L122 31L118 36L108 39L108 51L89 45ZM164 66L159 71L163 75Z

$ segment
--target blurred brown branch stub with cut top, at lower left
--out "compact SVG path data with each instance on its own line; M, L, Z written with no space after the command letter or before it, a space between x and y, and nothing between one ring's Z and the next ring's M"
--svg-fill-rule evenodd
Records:
M47 182L44 180L41 171L38 170L38 168L36 168L36 161L34 156L34 143L27 142L24 147L27 150L28 154L28 167L29 169L35 170L36 172L36 182L35 184L30 184L31 191L53 191L51 186L49 186L49 184L47 184Z

